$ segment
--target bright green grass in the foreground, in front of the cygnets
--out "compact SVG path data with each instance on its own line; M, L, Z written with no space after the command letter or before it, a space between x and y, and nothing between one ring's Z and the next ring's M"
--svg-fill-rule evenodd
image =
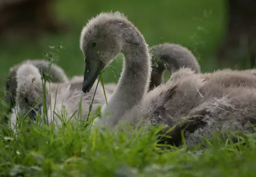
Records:
M26 127L26 128L24 128ZM28 131L29 130L29 131ZM98 131L83 122L27 125L18 137L1 126L0 176L25 177L253 177L256 136L230 144L160 149L157 129ZM246 145L243 145L246 143Z

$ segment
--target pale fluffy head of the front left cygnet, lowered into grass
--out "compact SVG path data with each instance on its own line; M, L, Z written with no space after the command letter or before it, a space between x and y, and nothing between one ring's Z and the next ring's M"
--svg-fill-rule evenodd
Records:
M18 68L16 78L16 98L20 115L24 116L29 112L29 118L35 121L36 115L43 107L43 85L38 68L29 63L23 64ZM47 91L46 87L46 101L48 103Z

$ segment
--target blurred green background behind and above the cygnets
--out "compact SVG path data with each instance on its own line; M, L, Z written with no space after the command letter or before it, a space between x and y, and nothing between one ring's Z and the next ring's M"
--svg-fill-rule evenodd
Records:
M202 72L217 69L213 56L223 37L223 0L58 0L54 8L58 18L70 25L68 33L44 36L36 43L17 40L1 45L1 86L9 67L24 59L43 58L43 53L50 51L48 46L60 42L65 49L60 50L55 63L63 67L69 77L82 75L84 61L79 49L80 31L91 17L102 11L123 12L139 28L149 46L161 42L181 44L195 54ZM122 60L118 59L112 65L120 71ZM115 74L119 76L119 73ZM109 70L103 77L105 82L117 81Z

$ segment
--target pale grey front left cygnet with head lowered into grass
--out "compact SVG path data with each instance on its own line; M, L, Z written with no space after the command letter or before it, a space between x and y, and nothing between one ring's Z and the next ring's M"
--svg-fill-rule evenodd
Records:
M62 123L62 120L55 116L55 113L61 118L72 118L71 121L75 121L76 118L86 119L93 97L92 112L96 111L98 106L102 106L106 102L102 89L97 89L94 96L97 83L93 84L92 90L89 93L83 93L81 90L82 81L83 77L75 76L67 83L45 82L46 110L49 124L53 121L56 124ZM43 85L41 75L35 66L25 63L19 67L17 70L17 86L17 112L25 115L35 102L37 103L36 110L41 110L40 108L43 106ZM107 98L111 95L108 91L105 93ZM82 110L80 110L80 102ZM12 122L15 122L17 119L14 112L13 108ZM33 120L37 113L38 111L31 112L29 117ZM62 115L65 115L65 117L62 117Z

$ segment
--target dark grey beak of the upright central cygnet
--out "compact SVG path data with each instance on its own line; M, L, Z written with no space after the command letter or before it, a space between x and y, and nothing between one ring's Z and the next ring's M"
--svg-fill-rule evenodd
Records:
M87 59L85 61L85 65L82 90L84 93L88 93L93 87L93 84L99 76L99 73L104 69L104 65L102 61L98 59Z

